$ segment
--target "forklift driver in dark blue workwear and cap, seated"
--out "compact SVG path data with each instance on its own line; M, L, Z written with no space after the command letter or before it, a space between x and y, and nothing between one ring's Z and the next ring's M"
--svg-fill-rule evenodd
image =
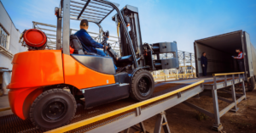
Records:
M74 35L78 36L79 41L83 45L84 51L86 51L87 53L96 53L101 56L106 56L106 53L104 53L102 50L96 49L103 48L104 46L91 38L91 36L87 32L88 27L88 20L82 19L80 23L80 30L78 30ZM106 47L106 49L108 49L108 47Z

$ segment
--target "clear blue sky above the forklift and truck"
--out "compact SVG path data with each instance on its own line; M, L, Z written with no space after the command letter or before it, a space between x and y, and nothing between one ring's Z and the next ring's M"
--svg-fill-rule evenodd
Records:
M32 28L32 21L56 25L54 8L60 0L1 0L16 28ZM193 42L235 30L246 30L256 47L256 0L112 0L139 9L143 42L177 42L178 50L194 52ZM103 30L116 36L112 13L102 22ZM71 28L79 29L72 20ZM90 31L98 31L95 24Z

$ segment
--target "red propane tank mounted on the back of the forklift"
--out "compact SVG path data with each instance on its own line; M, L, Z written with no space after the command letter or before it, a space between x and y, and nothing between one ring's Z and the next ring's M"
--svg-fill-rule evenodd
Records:
M47 46L47 36L44 34L43 31L38 29L24 30L20 35L19 42L22 43L22 46L28 47L28 51L44 50Z

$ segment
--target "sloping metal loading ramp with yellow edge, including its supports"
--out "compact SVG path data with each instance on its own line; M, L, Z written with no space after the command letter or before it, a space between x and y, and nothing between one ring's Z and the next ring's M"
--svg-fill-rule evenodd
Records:
M221 77L217 77L224 75ZM232 75L230 78L228 75ZM237 76L235 76L237 75ZM243 95L236 94L235 84L243 85ZM211 87L212 86L212 87ZM224 90L226 86L232 86L232 91ZM232 93L233 101L218 97L217 91L227 91ZM191 103L185 102L190 97L211 96L214 103L214 114L199 108ZM239 97L236 99L236 97ZM237 104L245 99L245 87L243 73L216 74L213 78L198 78L189 80L173 80L167 82L158 82L155 84L154 95L152 98L137 103L136 101L126 98L113 103L104 104L96 108L84 110L79 106L70 125L66 125L48 132L120 132L133 125L140 124L143 132L146 132L143 126L143 120L157 115L154 132L159 133L161 127L165 132L170 132L166 121L165 110L172 108L178 103L184 103L189 107L207 114L215 119L212 126L213 130L221 130L223 126L220 123L220 117L233 108L237 111ZM230 103L227 108L218 111L218 99ZM0 128L2 132L42 132L32 125L29 119L19 119L14 114L0 117Z

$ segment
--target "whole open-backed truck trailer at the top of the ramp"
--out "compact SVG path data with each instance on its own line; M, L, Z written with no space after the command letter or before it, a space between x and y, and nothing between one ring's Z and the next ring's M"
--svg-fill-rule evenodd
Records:
M237 30L218 36L211 36L195 40L195 65L197 77L202 76L201 54L207 53L207 74L238 72L236 48L244 53L245 80L248 91L255 88L256 79L256 49L250 42L250 36L246 31Z

